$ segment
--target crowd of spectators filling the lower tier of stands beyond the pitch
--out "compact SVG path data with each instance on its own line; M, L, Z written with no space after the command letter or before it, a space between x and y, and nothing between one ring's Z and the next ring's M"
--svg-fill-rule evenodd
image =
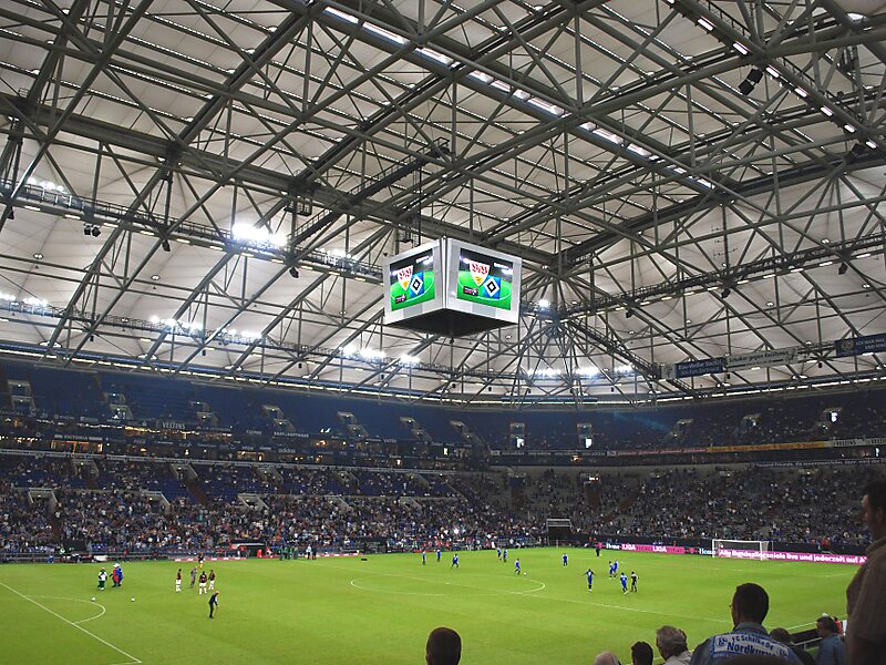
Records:
M552 469L508 478L96 458L79 467L100 470L84 489L71 485L73 468L65 459L4 457L0 546L85 542L94 551L137 553L243 540L289 548L372 540L389 549L478 548L538 539L547 519L567 518L575 531L601 536L770 540L828 550L862 542L852 489L873 474L751 467L600 475ZM189 481L178 478L186 473ZM53 489L56 503L28 503L23 491L35 487Z

